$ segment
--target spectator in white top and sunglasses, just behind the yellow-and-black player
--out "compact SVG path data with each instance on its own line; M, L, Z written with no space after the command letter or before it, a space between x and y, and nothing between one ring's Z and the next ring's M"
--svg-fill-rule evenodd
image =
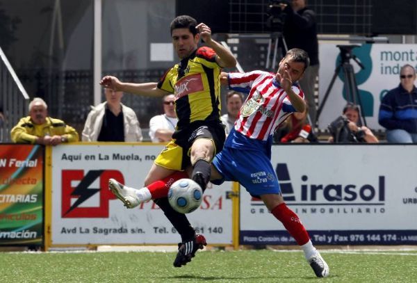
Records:
M178 122L174 95L163 97L163 112L149 120L149 137L152 143L166 143L172 139Z

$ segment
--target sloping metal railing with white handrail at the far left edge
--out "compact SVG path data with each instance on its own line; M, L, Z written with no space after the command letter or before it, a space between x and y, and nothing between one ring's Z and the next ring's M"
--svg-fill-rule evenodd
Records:
M29 96L0 47L0 143L10 143L10 130L28 113Z

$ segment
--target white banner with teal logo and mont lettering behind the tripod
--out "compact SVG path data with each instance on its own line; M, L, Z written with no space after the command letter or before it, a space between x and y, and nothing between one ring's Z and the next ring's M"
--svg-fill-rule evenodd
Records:
M322 105L336 67L340 63L341 49L334 44L320 44L320 71L318 105ZM389 90L400 84L400 67L405 64L417 66L417 45L364 44L352 49L352 54L362 63L364 69L353 60L354 75L359 89L360 102L370 129L384 129L378 124L379 104ZM341 72L329 92L318 124L326 129L343 110L347 102L345 95L345 77ZM359 101L357 101L359 104Z

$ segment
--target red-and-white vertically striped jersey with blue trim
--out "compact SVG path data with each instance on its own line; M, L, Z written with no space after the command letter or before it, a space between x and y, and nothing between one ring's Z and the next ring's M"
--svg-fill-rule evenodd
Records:
M275 128L295 112L275 74L270 72L229 73L229 88L249 94L234 125L236 131L248 138L268 140ZM292 89L304 99L298 86Z

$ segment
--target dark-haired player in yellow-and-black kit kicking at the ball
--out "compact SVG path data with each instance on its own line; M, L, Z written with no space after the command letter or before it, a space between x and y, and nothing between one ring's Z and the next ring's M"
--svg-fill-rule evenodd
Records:
M151 195L148 188L176 172L186 172L203 190L206 188L211 160L222 149L225 137L220 120L220 72L222 67L235 67L236 59L229 49L211 38L211 29L206 24L197 24L193 17L176 17L170 30L181 62L167 70L159 82L124 83L114 76L104 76L100 83L105 88L138 95L162 97L174 93L177 128L149 170L145 188L136 190L113 179L109 186L128 208L152 198L163 209L181 235L182 243L174 261L174 266L179 267L190 261L206 241L204 236L195 234L184 214L170 207L166 197ZM197 48L200 39L206 46Z

